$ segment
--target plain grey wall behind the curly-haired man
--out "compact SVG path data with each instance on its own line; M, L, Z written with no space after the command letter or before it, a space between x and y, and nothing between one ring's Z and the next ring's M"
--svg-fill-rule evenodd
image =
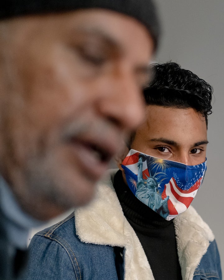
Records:
M214 88L208 169L193 206L215 234L224 271L224 1L155 1L163 23L156 60L177 62Z

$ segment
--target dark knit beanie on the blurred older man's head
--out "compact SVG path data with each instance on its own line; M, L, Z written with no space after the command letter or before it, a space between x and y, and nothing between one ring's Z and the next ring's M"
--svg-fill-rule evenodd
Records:
M150 31L156 48L160 26L153 0L2 0L0 20L89 8L109 9L136 18Z

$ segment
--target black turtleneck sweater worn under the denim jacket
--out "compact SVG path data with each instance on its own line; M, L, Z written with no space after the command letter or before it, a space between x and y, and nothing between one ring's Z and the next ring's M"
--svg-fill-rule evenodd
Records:
M133 227L147 256L155 280L182 280L173 221L159 214L134 196L119 170L114 188L124 216Z

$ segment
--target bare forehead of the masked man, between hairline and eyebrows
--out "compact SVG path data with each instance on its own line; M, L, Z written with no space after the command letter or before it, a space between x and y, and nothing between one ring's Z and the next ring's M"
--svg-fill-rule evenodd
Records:
M147 105L145 121L136 129L131 142L136 142L138 139L138 143L150 141L179 146L179 141L188 139L189 135L194 135L194 139L189 141L191 145L208 143L204 117L199 116L193 108L179 109Z

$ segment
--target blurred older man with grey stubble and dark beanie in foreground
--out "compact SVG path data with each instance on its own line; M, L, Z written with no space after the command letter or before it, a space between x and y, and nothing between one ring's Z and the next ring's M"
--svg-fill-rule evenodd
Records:
M151 0L3 1L1 279L18 271L37 220L92 198L121 139L142 121L158 35Z

